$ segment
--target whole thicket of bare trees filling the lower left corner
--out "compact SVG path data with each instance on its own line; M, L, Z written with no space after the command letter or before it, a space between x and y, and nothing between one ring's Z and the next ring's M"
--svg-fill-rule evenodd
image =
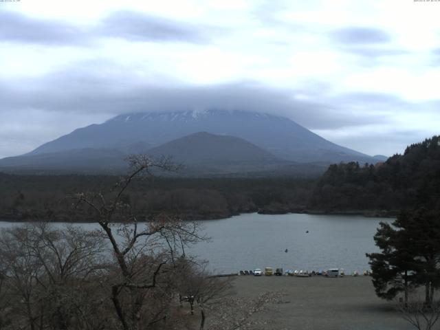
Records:
M3 230L0 269L12 329L99 329L96 285L102 240L66 226L37 223ZM100 258L98 257L100 256ZM8 329L8 328L6 328Z

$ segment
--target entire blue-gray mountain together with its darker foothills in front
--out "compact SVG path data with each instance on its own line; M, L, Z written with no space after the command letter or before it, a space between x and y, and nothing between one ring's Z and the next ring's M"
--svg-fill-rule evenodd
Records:
M0 170L114 173L133 153L171 155L186 164L184 175L320 175L331 163L382 160L333 144L288 118L209 110L118 115L0 159Z

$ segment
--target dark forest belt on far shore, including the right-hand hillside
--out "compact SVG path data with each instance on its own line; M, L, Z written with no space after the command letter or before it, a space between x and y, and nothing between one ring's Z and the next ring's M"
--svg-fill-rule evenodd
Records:
M69 196L102 192L111 175L10 175L0 173L0 218L72 219ZM124 192L142 219L159 213L181 219L218 219L241 212L327 212L393 215L401 209L440 207L440 138L434 136L377 164L333 164L318 179L143 177ZM84 215L84 214L83 214Z

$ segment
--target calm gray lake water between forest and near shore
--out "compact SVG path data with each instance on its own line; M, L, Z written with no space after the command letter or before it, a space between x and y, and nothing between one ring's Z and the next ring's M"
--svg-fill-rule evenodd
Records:
M216 273L283 267L293 270L343 268L346 273L369 269L366 252L377 252L373 236L380 221L393 219L353 215L241 214L200 221L211 237L190 248L210 261ZM0 222L0 228L10 222ZM94 223L81 223L86 229ZM307 232L308 231L308 232ZM287 252L285 250L287 249Z

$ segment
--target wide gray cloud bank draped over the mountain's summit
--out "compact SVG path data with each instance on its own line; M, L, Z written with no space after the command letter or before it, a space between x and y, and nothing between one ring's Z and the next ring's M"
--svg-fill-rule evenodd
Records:
M426 107L388 94L334 96L330 91L325 83L311 80L294 90L252 81L203 86L169 80L146 83L114 63L74 63L61 72L28 79L24 84L21 80L0 80L0 113L14 118L12 127L0 124L4 131L0 134L0 157L30 151L85 124L142 111L240 109L283 115L333 142L371 154L400 152L408 143L426 137L426 132L417 129L410 134L400 134L398 128L393 131L399 111L404 115L405 111ZM427 109L436 107L437 103L431 103ZM373 127L371 131L369 126ZM366 131L358 134L360 130ZM24 136L23 132L34 133ZM20 139L21 145L17 143ZM381 139L386 144L381 144Z

